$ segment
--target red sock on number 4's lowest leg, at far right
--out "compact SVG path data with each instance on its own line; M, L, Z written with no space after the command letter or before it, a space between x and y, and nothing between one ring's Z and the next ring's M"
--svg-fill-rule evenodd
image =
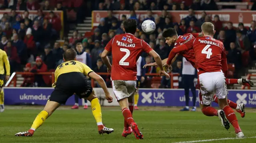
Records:
M226 106L223 108L223 111L225 112L226 118L228 119L228 121L233 125L233 127L235 128L235 132L239 133L240 131L242 131L238 125L238 120L236 118L236 114L235 112L230 108L230 106Z

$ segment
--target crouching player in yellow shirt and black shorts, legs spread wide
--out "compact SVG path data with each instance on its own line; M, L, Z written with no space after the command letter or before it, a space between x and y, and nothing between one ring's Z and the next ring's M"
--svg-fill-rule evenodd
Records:
M84 98L91 102L92 114L98 125L98 132L112 133L114 129L107 128L102 124L102 114L100 102L95 95L92 86L86 79L86 76L96 80L105 92L106 99L109 103L113 98L108 92L107 86L101 76L93 72L87 65L76 61L76 51L68 49L63 54L64 63L60 64L55 70L55 82L52 84L54 91L50 99L34 120L28 131L16 133L16 136L32 136L34 131L61 105L65 104L70 96L76 93L79 98Z

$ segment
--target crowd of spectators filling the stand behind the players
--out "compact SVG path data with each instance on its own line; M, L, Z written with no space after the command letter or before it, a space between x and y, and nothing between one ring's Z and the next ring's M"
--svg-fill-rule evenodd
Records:
M14 3L12 6L19 7L19 10L23 8L30 10L29 6L32 1L28 0L29 4ZM18 2L21 1L18 0ZM45 1L44 5L41 6L43 10L54 10L54 8L48 7L47 2L49 1ZM24 71L54 71L56 66L63 62L62 53L66 49L73 48L78 52L78 55L84 52L89 55L86 60L87 65L94 71L107 72L100 58L101 52L114 35L124 33L122 22L127 19L126 15L123 15L121 20L117 19L113 16L111 10L130 10L130 17L128 18L137 20L138 29L140 30L135 33L135 36L146 41L160 55L161 59L167 58L172 49L172 47L168 47L165 44L165 40L162 37L163 31L169 27L174 27L178 35L198 33L201 32L200 27L204 22L212 22L215 25L216 34L214 38L224 43L228 63L233 63L236 69L235 77L238 78L244 74L241 69L248 67L251 64L250 61L255 59L255 21L251 22L250 27L244 27L243 23L240 23L238 27L234 27L232 22L224 26L218 15L214 16L214 20L211 19L207 12L202 12L202 18L200 19L194 16L194 10L204 10L207 7L210 7L211 10L217 10L214 0L186 0L186 2L181 2L181 0L96 0L96 3L95 10L108 10L108 16L100 19L100 24L94 29L94 34L91 37L84 37L82 33L74 30L70 39L64 38L62 47L60 43L55 42L59 36L61 25L58 25L60 24L60 19L54 15L54 12L44 15L39 9L40 7L34 4L31 8L38 8L38 16L34 19L28 17L28 11L23 14L17 14L15 10L12 10L10 15L4 14L0 22L0 38L2 39L0 48L6 51L10 60L11 70L20 70L19 65L21 63L26 65ZM56 4L55 9L63 9L62 3ZM144 20L137 19L135 10L148 10L147 17L144 20L149 19L156 23L154 33L147 35L142 32L141 23ZM157 17L153 17L151 10L162 10L162 13ZM182 19L180 23L173 23L172 17L169 16L166 10L188 10L188 16ZM80 44L83 47L82 51L76 48L76 45ZM146 63L153 62L153 58L146 53L142 53L142 57ZM33 64L33 61L36 61L36 64ZM174 63L173 72L181 71L180 61L182 61L181 57L178 57L177 62ZM158 68L149 67L146 72L156 73ZM26 77L26 82L24 82L23 86L35 86L35 81L37 83L36 86L50 86L49 76L40 76L40 78L36 76L24 77ZM108 82L109 77L105 76L104 79ZM166 80L163 80L162 84L164 87L170 86L170 82L166 82Z

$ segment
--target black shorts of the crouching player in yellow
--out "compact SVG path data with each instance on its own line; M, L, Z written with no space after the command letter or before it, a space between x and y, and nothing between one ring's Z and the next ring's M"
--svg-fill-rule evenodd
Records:
M49 100L66 104L68 98L74 93L76 93L79 98L86 98L92 93L90 82L88 82L86 76L81 72L60 74Z

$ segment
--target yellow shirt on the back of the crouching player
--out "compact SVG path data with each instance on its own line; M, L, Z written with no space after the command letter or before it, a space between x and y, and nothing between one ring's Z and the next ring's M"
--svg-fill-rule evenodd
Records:
M54 76L55 76L55 82L52 84L52 87L56 86L56 81L58 79L58 76L60 76L60 74L64 74L64 73L68 73L68 72L81 72L84 75L88 76L88 73L93 72L92 69L90 69L90 67L88 67L87 65L85 65L84 63L81 63L79 61L66 61L62 64L60 64L55 72L54 72Z

